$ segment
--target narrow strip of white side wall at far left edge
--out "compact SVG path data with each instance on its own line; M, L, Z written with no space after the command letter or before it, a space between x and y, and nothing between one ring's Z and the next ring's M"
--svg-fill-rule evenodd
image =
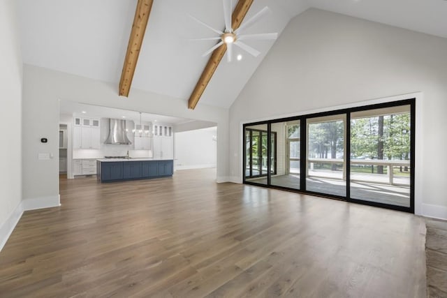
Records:
M15 1L0 0L0 250L22 214L22 57Z

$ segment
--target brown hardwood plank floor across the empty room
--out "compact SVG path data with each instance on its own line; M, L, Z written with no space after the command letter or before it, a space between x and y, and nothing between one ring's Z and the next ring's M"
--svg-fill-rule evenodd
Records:
M274 189L61 180L0 253L0 297L425 297L411 214Z

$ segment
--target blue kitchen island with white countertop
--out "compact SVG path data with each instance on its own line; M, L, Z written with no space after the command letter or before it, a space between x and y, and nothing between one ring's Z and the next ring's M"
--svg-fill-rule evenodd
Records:
M174 174L172 159L105 158L96 160L98 180L115 182L137 179L171 177Z

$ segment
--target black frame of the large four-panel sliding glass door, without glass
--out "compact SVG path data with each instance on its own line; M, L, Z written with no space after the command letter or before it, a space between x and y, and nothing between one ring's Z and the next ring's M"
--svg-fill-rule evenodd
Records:
M393 204L385 204L385 203L380 203L380 202L372 202L372 201L366 201L366 200L357 200L357 199L353 199L351 198L351 113L352 112L359 112L359 111L365 111L365 110L375 110L375 109L381 109L381 108L386 108L386 107L396 107L396 106L400 106L400 105L410 105L410 131L411 131L411 135L410 135L410 168L411 168L411 172L410 172L410 195L409 195L409 199L410 199L410 206L409 207L402 207L402 206L397 206L397 205L393 205ZM345 114L346 115L346 125L345 125L345 133L344 135L345 140L344 142L346 144L344 144L344 147L346 149L346 151L344 152L345 154L345 167L346 167L346 197L340 197L337 195L328 195L325 193L315 193L315 192L311 192L311 191L307 191L306 188L306 161L307 161L307 119L311 119L311 118L315 118L315 117L326 117L326 116L332 116L332 115L337 115L337 114ZM295 188L286 188L286 187L282 187L282 186L273 186L270 183L270 170L268 171L268 184L256 184L253 183L251 181L246 181L246 176L245 176L245 170L246 170L246 161L247 161L247 156L246 156L246 152L247 152L247 148L246 148L246 144L245 144L245 131L246 128L249 126L255 126L255 125L261 125L261 124L267 124L268 126L268 169L270 169L270 133L271 133L271 126L270 124L272 123L277 123L277 122L286 122L286 121L295 121L295 120L299 120L300 121L300 189L295 189ZM328 112L318 112L318 113L314 113L314 114L304 114L304 115L299 115L299 116L295 116L295 117L287 117L287 118L281 118L281 119L271 119L271 120L267 120L267 121L258 121L258 122L254 122L254 123L247 123L247 124L243 124L242 125L243 130L242 130L242 139L243 139L243 183L244 184L251 184L251 185L256 185L256 186L263 186L263 187L268 187L268 188L279 188L279 189L283 189L286 191L294 191L296 193L305 193L305 194L309 194L309 195L318 195L321 197L325 197L325 198L334 198L337 200L344 200L346 202L353 202L353 203L358 203L358 204L366 204L369 206L374 206L374 207L382 207L382 208L386 208L386 209L394 209L394 210L398 210L398 211L405 211L405 212L409 212L409 213L413 213L414 214L414 182L415 182L415 148L416 148L416 98L409 98L409 99L405 99L405 100L397 100L397 101L391 101L391 102L386 102L386 103L376 103L376 104L372 104L372 105L362 105L362 106L358 106L358 107L349 107L346 109L340 109L340 110L332 110L332 111L328 111ZM275 150L276 151L276 150Z

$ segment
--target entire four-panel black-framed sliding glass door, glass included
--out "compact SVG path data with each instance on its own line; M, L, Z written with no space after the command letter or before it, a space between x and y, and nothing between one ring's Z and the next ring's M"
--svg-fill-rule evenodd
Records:
M244 182L414 212L415 99L244 125Z

